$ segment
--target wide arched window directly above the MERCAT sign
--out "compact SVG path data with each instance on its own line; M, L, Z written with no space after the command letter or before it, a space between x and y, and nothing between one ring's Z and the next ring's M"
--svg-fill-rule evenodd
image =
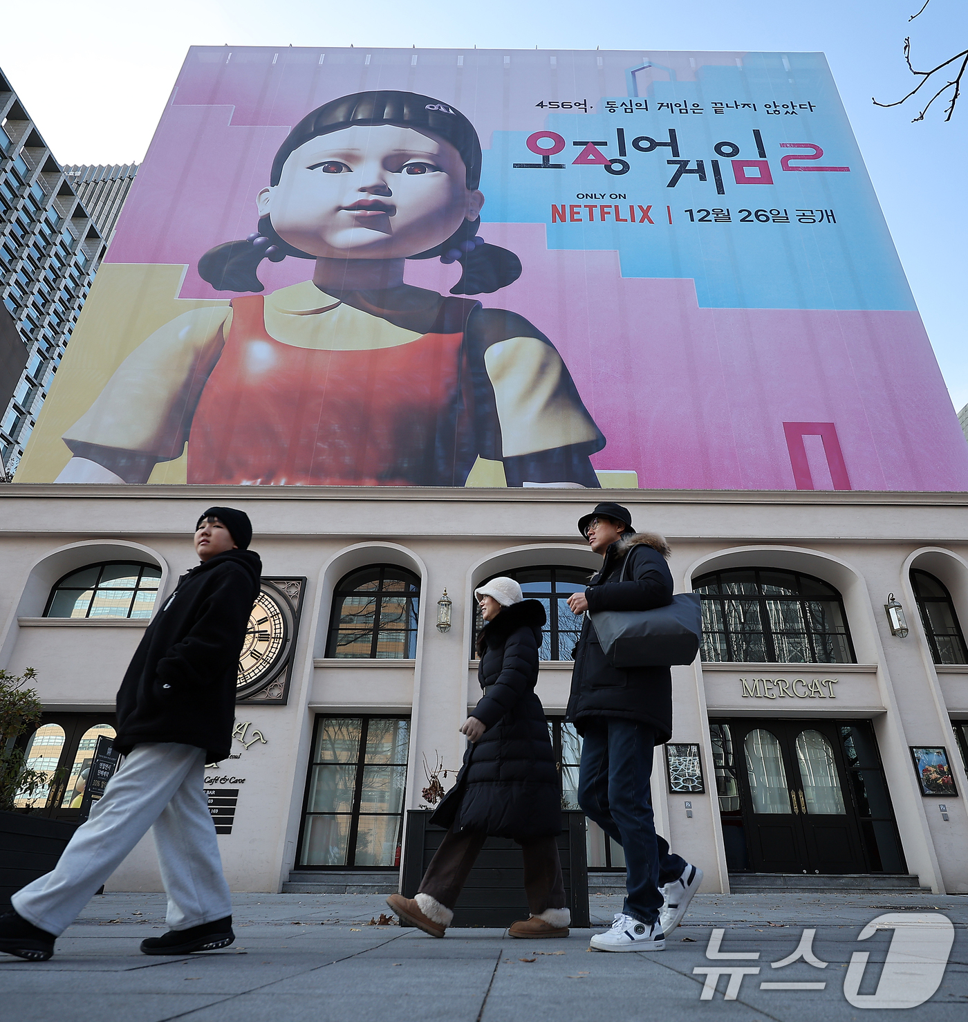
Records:
M693 579L702 603L702 659L741 663L855 663L843 600L833 586L775 568Z

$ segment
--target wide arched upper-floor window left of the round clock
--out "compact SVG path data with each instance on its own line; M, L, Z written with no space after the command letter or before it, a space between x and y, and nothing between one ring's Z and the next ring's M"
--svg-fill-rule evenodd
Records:
M150 617L160 577L153 564L89 564L54 586L44 617Z

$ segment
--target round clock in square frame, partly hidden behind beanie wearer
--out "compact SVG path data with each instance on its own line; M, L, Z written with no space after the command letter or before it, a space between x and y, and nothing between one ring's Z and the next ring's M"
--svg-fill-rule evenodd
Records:
M237 699L285 705L306 578L263 578L238 661Z

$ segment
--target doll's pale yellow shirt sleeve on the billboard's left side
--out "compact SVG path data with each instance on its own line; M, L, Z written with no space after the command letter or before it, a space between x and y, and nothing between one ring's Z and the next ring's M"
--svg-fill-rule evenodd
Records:
M155 330L118 367L64 443L72 451L93 444L177 458L231 321L231 307L216 306L182 313Z

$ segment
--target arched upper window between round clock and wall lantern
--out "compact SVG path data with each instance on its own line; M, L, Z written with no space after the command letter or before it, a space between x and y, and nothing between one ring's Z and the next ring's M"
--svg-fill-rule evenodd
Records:
M420 579L396 564L370 564L339 580L327 656L412 660L417 655Z

